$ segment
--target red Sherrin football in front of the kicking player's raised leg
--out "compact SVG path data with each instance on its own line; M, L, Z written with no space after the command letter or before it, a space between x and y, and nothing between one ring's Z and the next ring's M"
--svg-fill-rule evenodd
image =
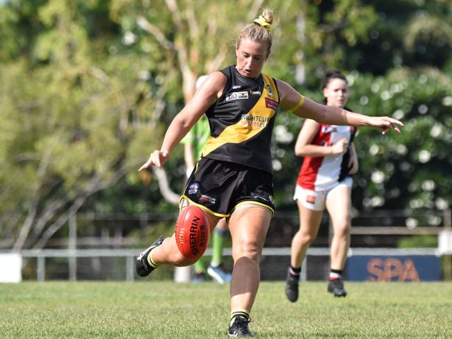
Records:
M177 218L175 236L177 247L188 259L199 259L209 245L209 223L201 208L188 206Z

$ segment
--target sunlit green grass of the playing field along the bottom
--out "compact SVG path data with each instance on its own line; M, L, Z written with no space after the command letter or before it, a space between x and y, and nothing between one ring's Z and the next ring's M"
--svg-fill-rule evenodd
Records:
M452 283L263 282L259 338L452 338ZM0 338L227 338L229 286L171 281L0 284Z

